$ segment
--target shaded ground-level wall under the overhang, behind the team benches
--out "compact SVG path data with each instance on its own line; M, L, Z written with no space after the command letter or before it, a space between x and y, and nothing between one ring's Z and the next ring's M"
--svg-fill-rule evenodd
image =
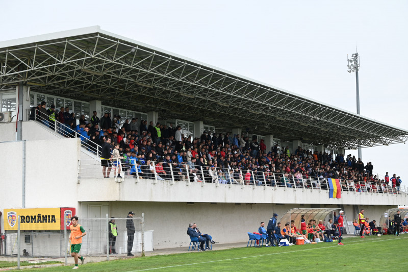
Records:
M202 233L212 235L220 243L248 241L247 232L258 232L261 221L268 224L269 218L276 212L278 220L298 204L245 204L235 203L165 203L165 202L110 202L109 216L121 217L129 211L136 214L144 212L145 229L154 230L154 249L179 248L188 246L190 238L187 227L195 222ZM301 208L310 208L304 205ZM316 207L316 206L314 206ZM325 208L340 208L337 205L321 205ZM359 206L360 207L360 206ZM390 206L361 206L366 209L365 215L379 220L380 214ZM352 205L345 207L347 220L357 216ZM214 245L216 246L216 245Z

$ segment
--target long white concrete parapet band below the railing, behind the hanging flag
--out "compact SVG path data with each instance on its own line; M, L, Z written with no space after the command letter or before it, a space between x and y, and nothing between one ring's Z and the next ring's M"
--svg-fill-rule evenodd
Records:
M329 199L327 190L241 186L216 183L192 183L126 178L81 179L78 185L79 201L162 201L162 202L217 202L217 203L294 203L333 205L399 205L408 201L408 195L365 192L342 192L341 199ZM188 185L188 186L187 186ZM98 188L98 190L94 190ZM93 191L92 194L87 192Z

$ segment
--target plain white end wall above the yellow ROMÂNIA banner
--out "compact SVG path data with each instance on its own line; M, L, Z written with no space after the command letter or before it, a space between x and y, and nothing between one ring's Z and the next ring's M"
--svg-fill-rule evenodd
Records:
M2 142L2 208L22 207L23 142ZM25 142L25 208L77 207L79 139Z

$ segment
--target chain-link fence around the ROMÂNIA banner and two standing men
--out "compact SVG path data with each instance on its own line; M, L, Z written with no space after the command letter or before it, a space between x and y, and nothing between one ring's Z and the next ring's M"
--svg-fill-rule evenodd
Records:
M4 217L0 270L23 265L74 264L70 253L70 229L61 228L70 224L66 218L61 220L45 215ZM86 232L79 253L86 258L85 262L144 256L143 214L127 218L79 218L78 222Z

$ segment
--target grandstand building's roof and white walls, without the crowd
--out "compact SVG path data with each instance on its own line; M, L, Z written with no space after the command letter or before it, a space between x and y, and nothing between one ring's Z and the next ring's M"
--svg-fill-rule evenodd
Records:
M245 241L246 233L273 213L281 216L293 208L343 209L350 222L360 208L378 220L408 204L404 189L399 194L342 191L337 199L321 188L104 179L99 159L80 138L67 139L30 120L30 109L46 101L87 119L96 110L98 116L161 120L181 125L193 137L203 131L246 132L264 139L268 151L278 144L291 151L303 146L345 154L405 142L408 131L99 27L0 42L0 64L2 211L73 207L79 216L100 218L144 212L145 228L154 231L153 246L161 249L188 245L186 228L193 221L217 241L233 243ZM301 129L294 129L294 122Z

